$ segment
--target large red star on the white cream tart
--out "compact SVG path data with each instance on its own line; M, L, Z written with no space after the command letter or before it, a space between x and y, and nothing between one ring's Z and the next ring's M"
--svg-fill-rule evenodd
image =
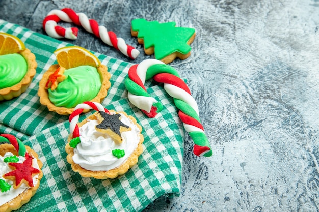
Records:
M16 169L4 175L4 178L6 179L15 177L15 185L13 186L15 189L22 184L22 180L25 180L30 187L33 187L32 176L33 174L40 173L38 169L32 167L32 158L26 157L27 158L23 163L9 163L9 166L13 166Z

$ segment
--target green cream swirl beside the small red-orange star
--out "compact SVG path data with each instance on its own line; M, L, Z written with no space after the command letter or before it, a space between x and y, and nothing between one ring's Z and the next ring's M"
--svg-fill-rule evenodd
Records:
M97 96L100 75L92 66L79 66L64 71L65 80L55 90L48 89L50 101L57 107L72 108Z

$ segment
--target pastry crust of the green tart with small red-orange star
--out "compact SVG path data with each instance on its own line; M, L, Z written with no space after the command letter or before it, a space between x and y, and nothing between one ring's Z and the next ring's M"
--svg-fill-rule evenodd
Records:
M57 107L55 106L49 99L48 97L48 91L45 89L45 84L49 79L49 76L54 73L57 69L59 68L58 64L50 66L50 68L43 74L42 79L39 82L39 90L38 90L38 96L40 97L40 103L42 105L46 105L49 111L54 111L60 115L69 115L73 112L73 108L66 108L66 107ZM94 97L91 100L87 101L93 101L93 102L102 102L103 99L107 96L108 94L108 89L111 86L110 83L110 78L111 74L108 72L108 67L104 65L100 65L99 67L96 68L97 72L100 75L100 80L101 80L101 88L96 97ZM89 110L84 110L83 112L86 113Z

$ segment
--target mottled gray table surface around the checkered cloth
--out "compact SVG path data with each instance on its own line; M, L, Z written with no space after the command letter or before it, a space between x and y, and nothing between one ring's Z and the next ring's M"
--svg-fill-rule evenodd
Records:
M192 55L170 65L188 80L214 155L186 135L182 192L144 211L319 211L318 0L0 0L0 18L45 34L52 9L70 7L141 51L136 60L80 29L65 40L117 59L147 58L135 18L193 27ZM67 26L67 23L61 25Z

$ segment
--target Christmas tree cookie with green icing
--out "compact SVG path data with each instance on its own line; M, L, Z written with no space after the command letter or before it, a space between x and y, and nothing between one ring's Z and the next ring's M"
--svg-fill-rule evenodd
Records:
M159 23L145 19L132 20L131 34L144 44L146 54L155 54L155 59L169 64L176 57L185 59L191 55L195 29L175 27L175 22Z

